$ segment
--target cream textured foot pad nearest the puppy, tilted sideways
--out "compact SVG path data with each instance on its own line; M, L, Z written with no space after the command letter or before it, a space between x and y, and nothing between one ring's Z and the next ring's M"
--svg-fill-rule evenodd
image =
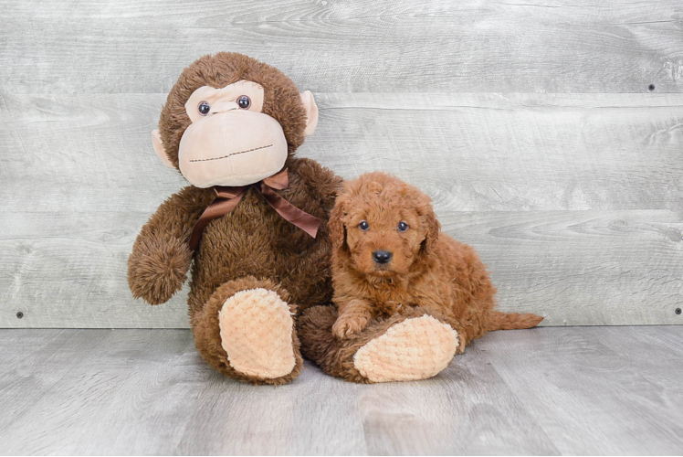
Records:
M457 332L450 325L424 315L395 324L363 345L353 356L353 365L372 382L426 379L448 366L457 344Z

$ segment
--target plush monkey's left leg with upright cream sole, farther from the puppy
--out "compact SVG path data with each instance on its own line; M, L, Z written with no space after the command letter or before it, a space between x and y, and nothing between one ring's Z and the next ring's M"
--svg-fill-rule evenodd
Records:
M286 384L299 376L295 306L277 283L245 277L211 295L191 324L205 361L226 377L252 384Z

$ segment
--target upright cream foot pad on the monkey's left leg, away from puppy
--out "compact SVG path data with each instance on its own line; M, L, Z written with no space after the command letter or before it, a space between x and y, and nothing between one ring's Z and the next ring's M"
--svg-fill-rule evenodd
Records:
M289 375L296 359L292 348L294 320L276 292L237 292L218 314L221 345L230 366L248 376L273 379Z

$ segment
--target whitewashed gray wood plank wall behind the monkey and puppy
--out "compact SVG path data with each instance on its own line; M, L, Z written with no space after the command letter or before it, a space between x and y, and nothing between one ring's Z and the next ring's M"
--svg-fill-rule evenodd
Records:
M126 259L184 186L152 152L165 93L219 50L314 91L299 154L422 186L502 309L683 323L678 1L0 1L0 19L2 327L187 325L185 292L131 299Z

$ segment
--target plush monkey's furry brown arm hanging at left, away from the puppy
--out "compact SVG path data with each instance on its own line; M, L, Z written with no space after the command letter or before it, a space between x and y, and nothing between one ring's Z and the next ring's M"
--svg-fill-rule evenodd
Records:
M214 197L211 189L184 187L142 227L128 258L128 285L134 298L165 303L183 287L193 257L190 233Z

